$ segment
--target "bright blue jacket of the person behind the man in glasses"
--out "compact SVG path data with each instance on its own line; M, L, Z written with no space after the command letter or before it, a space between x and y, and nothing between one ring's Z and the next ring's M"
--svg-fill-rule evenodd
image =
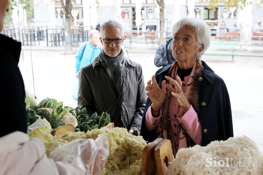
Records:
M79 73L82 67L92 63L92 61L99 55L101 51L101 49L97 46L93 48L93 45L90 41L87 42L86 48L84 50L85 44L86 42L81 44L76 56L76 73Z

